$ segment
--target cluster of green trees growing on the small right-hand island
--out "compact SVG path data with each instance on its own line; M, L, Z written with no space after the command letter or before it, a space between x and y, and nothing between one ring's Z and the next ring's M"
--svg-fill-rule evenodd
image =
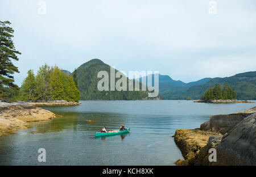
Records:
M208 88L204 96L201 99L205 100L219 100L219 99L236 99L236 91L231 88L228 83L225 83L224 87L221 84L216 84L214 87Z

